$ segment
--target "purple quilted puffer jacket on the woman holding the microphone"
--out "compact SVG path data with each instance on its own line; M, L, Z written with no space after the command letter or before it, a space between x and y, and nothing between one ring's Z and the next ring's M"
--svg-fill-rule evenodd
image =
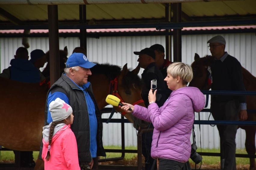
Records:
M194 112L200 112L204 106L205 96L196 87L172 91L160 108L156 103L150 104L148 109L135 105L133 115L154 125L151 157L187 162Z

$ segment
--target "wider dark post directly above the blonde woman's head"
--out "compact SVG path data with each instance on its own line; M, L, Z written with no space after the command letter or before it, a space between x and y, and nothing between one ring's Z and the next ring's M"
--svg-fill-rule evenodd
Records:
M173 3L173 21L181 22L181 3ZM173 61L181 62L181 29L173 30Z

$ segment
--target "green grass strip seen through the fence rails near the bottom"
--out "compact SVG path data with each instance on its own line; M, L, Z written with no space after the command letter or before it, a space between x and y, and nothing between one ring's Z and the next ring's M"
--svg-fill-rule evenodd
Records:
M121 149L121 146L105 146L105 149ZM137 150L137 147L129 146L125 147L125 149L131 149L131 150ZM197 149L197 152L213 152L213 153L219 153L219 149ZM237 154L247 154L245 149L237 149ZM37 160L39 151L34 151L33 156L34 159ZM114 157L120 157L121 153L106 153L106 158L114 158ZM136 159L137 154L136 153L125 153L125 160L134 160ZM203 157L203 164L206 165L212 165L212 164L219 164L220 163L220 157L214 157L214 156L202 156ZM104 159L104 157L100 157L100 159ZM14 153L13 151L1 151L0 152L0 161L1 162L8 162L8 161L14 161ZM193 161L190 159L190 163L193 163ZM236 158L236 164L246 165L249 164L249 158Z

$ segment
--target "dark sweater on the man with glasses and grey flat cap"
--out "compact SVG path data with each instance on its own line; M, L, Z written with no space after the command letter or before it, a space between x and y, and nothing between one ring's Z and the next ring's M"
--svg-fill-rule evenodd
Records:
M228 55L224 61L215 60L211 65L212 90L246 91L243 84L242 66L239 61ZM212 95L215 102L225 102L237 99L239 103L245 103L245 96Z

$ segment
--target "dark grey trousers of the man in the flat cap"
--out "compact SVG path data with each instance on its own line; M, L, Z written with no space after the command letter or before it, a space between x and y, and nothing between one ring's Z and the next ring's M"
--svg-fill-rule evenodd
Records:
M227 102L211 101L214 120L238 121L239 103L236 100ZM237 125L217 125L221 147L224 151L224 170L236 170L236 131Z

